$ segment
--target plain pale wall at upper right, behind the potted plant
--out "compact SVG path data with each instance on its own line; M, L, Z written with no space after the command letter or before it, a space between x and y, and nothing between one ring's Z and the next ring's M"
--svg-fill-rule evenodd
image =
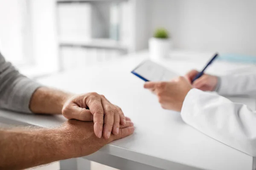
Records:
M256 0L149 0L150 33L166 27L176 48L256 55Z

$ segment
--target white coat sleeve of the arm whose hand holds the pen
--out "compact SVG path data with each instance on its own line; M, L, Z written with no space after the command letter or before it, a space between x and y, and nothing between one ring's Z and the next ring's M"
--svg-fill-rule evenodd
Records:
M256 96L256 74L227 75L219 81L217 92L221 95Z

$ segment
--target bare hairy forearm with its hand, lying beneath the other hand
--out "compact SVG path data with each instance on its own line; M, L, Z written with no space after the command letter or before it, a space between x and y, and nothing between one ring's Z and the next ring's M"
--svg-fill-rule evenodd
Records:
M130 119L118 135L99 139L93 122L69 120L55 129L0 129L0 170L20 170L54 161L90 155L113 140L134 132Z

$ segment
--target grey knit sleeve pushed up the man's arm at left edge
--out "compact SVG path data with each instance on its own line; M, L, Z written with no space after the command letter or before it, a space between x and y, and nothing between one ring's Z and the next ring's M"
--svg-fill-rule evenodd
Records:
M0 108L31 113L30 99L41 85L21 75L0 54Z

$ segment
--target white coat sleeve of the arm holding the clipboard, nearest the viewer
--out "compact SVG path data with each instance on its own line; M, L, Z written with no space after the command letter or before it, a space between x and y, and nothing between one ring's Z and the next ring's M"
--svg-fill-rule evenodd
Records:
M192 89L181 116L202 133L237 150L256 156L256 112L215 93Z

